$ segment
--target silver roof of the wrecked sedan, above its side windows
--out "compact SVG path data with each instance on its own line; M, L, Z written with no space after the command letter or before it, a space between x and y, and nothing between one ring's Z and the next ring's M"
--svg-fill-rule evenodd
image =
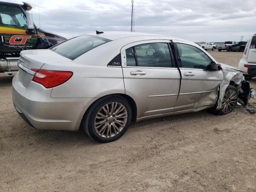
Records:
M142 32L126 32L126 31L106 31L101 34L96 34L95 32L89 35L98 36L98 37L106 38L109 40L118 40L122 38L133 38L133 37L143 36L144 39L148 38L148 40L152 40L153 38L153 39L168 39L168 40L175 39L175 40L187 41L187 40L183 40L173 36L164 36L159 34L150 34L150 33L142 33Z

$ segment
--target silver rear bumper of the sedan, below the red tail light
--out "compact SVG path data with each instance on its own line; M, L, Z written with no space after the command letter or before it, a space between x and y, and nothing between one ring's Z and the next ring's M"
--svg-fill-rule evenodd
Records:
M36 129L78 130L86 109L97 98L51 98L52 89L30 82L25 87L18 74L12 80L12 100L18 114Z

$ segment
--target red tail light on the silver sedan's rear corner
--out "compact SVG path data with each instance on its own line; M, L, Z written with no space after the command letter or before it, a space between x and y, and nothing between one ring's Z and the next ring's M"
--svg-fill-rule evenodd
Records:
M61 85L69 80L73 75L73 72L70 71L50 71L39 69L31 70L36 72L32 81L40 83L46 88L52 88Z

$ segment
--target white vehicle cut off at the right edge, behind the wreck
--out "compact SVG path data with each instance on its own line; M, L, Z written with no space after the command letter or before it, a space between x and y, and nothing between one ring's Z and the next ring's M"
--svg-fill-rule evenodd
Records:
M243 71L246 80L256 76L256 34L248 40L238 69Z

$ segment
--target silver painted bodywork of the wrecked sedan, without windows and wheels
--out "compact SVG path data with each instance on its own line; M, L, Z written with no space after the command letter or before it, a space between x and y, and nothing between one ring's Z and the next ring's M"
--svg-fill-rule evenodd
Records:
M119 34L119 35L118 35ZM242 73L224 64L222 71L209 72L190 68L156 68L126 66L126 48L148 42L182 42L196 46L218 63L200 46L174 37L128 32L106 32L97 36L112 41L86 52L74 60L51 50L21 52L20 70L13 78L13 102L38 129L78 130L84 113L98 98L126 94L137 106L137 120L221 107L226 87L240 84ZM121 66L107 66L121 53ZM32 81L32 68L72 71L64 84L45 88ZM131 75L131 72L143 72ZM181 72L181 76L180 76ZM192 72L194 76L184 76ZM200 83L199 83L200 82ZM181 85L181 86L180 86ZM219 92L219 96L218 96Z

